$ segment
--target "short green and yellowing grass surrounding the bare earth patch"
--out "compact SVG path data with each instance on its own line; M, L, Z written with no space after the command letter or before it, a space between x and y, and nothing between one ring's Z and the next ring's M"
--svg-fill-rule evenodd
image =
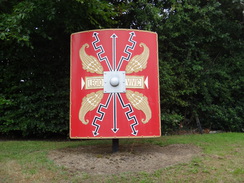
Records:
M189 163L162 168L154 173L125 172L119 175L89 175L59 167L48 152L77 146L111 144L94 141L0 141L0 182L244 182L244 134L163 136L156 139L123 139L120 143L150 143L160 146L194 144L202 155Z

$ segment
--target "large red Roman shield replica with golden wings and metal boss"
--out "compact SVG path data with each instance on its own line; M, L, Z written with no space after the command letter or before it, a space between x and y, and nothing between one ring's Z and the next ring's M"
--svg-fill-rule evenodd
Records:
M157 34L71 35L70 138L161 135Z

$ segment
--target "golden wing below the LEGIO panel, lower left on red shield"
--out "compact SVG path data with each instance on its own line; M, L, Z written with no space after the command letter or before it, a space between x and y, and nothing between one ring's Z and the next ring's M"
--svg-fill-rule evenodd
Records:
M82 99L82 104L79 111L79 120L84 124L87 125L89 120L85 120L85 115L87 112L94 110L98 104L101 102L103 98L103 91L100 90L98 92L92 92L86 95Z

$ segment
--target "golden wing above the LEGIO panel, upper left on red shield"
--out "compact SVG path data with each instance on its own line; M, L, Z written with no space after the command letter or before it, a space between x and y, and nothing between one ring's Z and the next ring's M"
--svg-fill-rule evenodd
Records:
M79 51L83 69L91 73L95 72L97 74L103 74L103 67L101 63L96 59L96 57L87 55L85 48L89 48L87 43L84 44Z

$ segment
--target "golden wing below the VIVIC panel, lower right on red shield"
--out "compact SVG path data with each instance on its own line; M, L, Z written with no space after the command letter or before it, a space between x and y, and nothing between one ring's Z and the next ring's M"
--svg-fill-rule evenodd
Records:
M146 119L142 119L141 121L144 124L147 123L152 118L152 111L148 104L147 97L142 93L133 92L131 90L126 91L126 97L133 107L135 107L137 110L141 110L145 114Z

